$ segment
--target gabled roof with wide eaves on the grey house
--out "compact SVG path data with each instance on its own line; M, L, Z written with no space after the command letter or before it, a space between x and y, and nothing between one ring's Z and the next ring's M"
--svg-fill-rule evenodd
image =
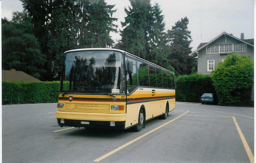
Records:
M234 39L237 39L243 43L246 43L250 46L253 46L254 47L254 39L244 39L244 40L241 40L231 34L228 34L226 32L222 32L221 34L219 34L217 37L215 37L214 39L212 39L211 41L209 41L208 43L200 43L200 45L197 47L197 49L195 51L193 51L192 53L189 54L189 56L194 56L194 55L197 55L196 52L202 50L203 48L205 48L206 46L210 45L212 42L214 42L215 40L217 40L218 38L220 38L222 35L227 35L227 36L230 36Z

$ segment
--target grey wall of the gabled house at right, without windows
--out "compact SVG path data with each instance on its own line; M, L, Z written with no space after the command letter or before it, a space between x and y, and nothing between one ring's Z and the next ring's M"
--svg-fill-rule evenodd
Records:
M240 44L241 41L234 39L232 37L227 36L227 42L225 42L225 36L221 36L219 39L215 40L210 45L228 45L228 44ZM208 46L210 46L208 45ZM227 55L221 55L222 53L211 53L206 54L206 47L202 50L198 51L198 62L197 62L197 70L198 73L202 74L211 74L211 71L207 71L207 60L214 59L214 67L216 68L218 63L225 59ZM248 56L250 55L253 59L253 46L247 45L247 51L236 52L236 54Z

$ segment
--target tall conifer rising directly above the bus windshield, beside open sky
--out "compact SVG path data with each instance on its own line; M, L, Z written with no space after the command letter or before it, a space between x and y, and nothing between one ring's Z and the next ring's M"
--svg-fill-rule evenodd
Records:
M113 45L110 32L117 32L117 25L113 21L112 10L115 5L107 5L104 0L90 0L89 6L86 6L86 14L82 15L83 27L80 28L81 46L87 48L106 48ZM86 21L84 21L86 20ZM84 24L86 22L86 24Z

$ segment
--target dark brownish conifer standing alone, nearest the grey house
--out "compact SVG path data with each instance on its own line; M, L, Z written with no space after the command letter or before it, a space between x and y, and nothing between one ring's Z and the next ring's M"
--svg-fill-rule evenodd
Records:
M171 53L169 55L169 63L175 68L177 75L190 74L195 64L195 58L188 56L191 53L190 43L192 38L191 31L188 30L188 18L181 20L172 26L172 30L168 30L168 39L170 41Z

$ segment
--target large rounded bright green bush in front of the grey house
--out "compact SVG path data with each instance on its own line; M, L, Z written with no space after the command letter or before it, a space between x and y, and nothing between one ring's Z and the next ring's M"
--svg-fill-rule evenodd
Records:
M253 60L250 56L227 55L211 74L219 105L249 105L253 84Z

